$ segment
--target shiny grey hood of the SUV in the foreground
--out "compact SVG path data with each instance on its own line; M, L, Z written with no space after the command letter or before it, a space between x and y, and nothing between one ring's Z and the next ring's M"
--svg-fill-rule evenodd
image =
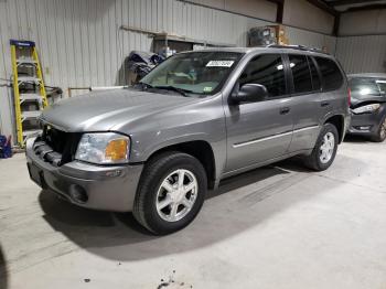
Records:
M194 101L200 99L137 89L115 89L61 100L45 109L41 120L68 132L106 131Z

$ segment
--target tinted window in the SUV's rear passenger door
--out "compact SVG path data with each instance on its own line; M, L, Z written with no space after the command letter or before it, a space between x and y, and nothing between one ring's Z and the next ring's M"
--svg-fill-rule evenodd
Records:
M305 55L290 54L290 67L293 78L294 93L312 92L312 81L309 64Z

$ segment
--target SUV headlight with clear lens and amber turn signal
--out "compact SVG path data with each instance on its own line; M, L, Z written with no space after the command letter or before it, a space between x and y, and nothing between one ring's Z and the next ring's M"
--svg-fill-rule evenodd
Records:
M95 132L82 136L75 159L98 164L126 163L129 160L130 139L115 132Z

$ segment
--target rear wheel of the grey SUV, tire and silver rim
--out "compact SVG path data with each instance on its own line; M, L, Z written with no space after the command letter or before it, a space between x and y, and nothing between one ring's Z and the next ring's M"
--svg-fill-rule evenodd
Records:
M325 138L329 138L331 140L331 137L333 137L333 146L325 140ZM330 146L324 147L325 150L329 151L329 153L322 156L322 146L329 142ZM337 150L337 143L339 143L339 133L337 129L332 124L325 124L318 137L315 147L312 150L312 153L310 156L307 156L303 161L305 167L308 167L311 170L314 171L324 171L330 168L330 165L333 163L336 150Z

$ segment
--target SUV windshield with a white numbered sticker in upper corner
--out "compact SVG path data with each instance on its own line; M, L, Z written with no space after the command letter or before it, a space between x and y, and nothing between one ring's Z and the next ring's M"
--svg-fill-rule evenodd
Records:
M189 94L217 93L243 56L235 52L191 52L161 63L140 83L153 88L178 88ZM174 89L175 90L175 89Z

